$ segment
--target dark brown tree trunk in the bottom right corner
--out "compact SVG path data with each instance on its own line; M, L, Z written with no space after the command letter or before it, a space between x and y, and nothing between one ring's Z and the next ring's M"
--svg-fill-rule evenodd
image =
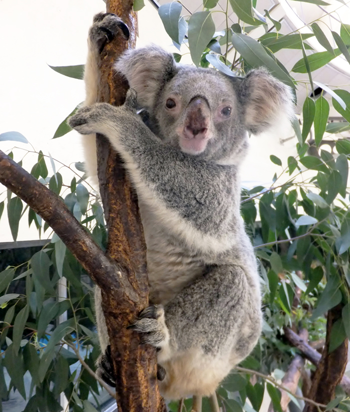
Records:
M330 332L333 324L341 318L341 309L339 304L327 313L325 345L307 396L318 403L327 404L334 398L335 386L340 383L347 363L347 338L329 353ZM317 412L317 407L306 402L303 412Z

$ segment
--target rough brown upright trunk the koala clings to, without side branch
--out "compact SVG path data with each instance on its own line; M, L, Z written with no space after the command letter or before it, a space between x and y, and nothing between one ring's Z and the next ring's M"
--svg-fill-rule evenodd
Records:
M136 16L132 0L109 0L106 9L128 26L130 38L121 36L106 45L99 62L98 101L120 105L124 102L127 82L115 73L113 64L128 48L135 46ZM108 142L97 136L97 164L100 195L108 230L107 254L120 266L122 274L137 291L137 300L122 299L108 289L101 290L102 308L116 371L116 398L119 412L162 411L165 403L159 395L156 379L155 348L140 345L140 336L126 329L138 313L148 306L146 247L134 195L120 158Z

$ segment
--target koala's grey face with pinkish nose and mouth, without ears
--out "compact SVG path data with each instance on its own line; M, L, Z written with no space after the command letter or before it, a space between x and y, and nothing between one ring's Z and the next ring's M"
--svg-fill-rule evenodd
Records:
M246 146L235 82L211 69L180 67L154 107L163 141L199 158L229 161Z

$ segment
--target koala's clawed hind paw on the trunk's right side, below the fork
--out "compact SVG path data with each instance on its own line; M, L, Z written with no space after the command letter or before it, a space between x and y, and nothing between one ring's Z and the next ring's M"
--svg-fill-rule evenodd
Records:
M157 349L162 349L169 342L169 331L161 305L142 310L139 318L129 327L142 334L142 343L148 343Z

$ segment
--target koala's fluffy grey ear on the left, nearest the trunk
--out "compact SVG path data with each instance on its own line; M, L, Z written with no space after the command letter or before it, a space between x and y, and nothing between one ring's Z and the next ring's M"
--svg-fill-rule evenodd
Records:
M116 61L114 68L136 90L137 103L142 107L152 108L159 89L174 76L176 63L172 54L151 45L128 50Z

